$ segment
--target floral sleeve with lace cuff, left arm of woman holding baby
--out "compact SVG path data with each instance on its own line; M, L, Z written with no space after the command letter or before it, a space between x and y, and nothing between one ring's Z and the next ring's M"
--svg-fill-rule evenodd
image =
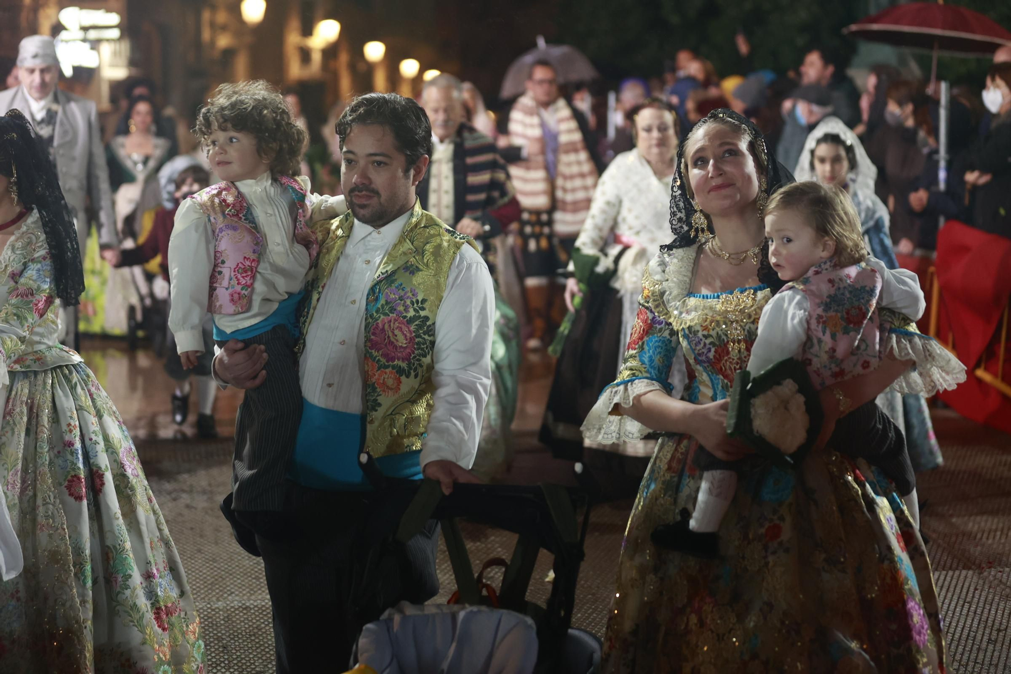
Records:
M678 357L677 332L670 323L668 303L671 298L664 297L663 292L663 282L672 262L666 253L660 253L646 267L639 313L621 372L618 381L604 390L586 416L582 425L586 440L603 443L641 440L651 430L622 414L621 407L629 407L638 397L651 391L681 394L675 389L683 389L684 361Z

